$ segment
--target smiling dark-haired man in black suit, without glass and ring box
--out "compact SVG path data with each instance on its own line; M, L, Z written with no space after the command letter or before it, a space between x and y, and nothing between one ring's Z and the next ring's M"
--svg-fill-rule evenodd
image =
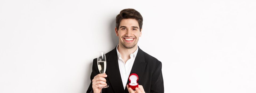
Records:
M124 9L116 16L116 36L119 44L106 53L107 69L99 74L97 58L93 60L91 84L87 93L164 93L162 63L142 51L137 43L143 18L134 9ZM129 75L136 73L139 87L129 88ZM109 85L108 88L99 88Z

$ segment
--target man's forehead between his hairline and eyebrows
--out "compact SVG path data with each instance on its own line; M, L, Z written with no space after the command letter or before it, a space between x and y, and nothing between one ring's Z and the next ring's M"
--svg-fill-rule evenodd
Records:
M126 26L126 27L137 26L137 27L139 27L139 23L136 19L122 19L119 27L120 26Z

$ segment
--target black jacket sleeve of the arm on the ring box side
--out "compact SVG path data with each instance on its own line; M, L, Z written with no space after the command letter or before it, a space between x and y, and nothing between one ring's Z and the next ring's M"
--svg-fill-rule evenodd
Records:
M164 93L164 80L162 75L162 63L156 67L156 70L152 74L150 93Z

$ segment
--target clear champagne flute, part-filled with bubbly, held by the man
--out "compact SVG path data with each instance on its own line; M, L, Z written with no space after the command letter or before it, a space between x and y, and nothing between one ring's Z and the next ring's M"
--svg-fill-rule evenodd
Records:
M104 74L107 68L107 61L106 61L106 56L104 51L98 52L98 57L97 57L97 64L98 64L98 69L100 71L100 74ZM105 87L99 87L99 88L107 88L108 85Z

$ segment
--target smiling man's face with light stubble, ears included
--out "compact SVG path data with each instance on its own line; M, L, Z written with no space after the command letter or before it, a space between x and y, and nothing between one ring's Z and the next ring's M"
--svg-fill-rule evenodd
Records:
M117 31L115 28L116 36L119 37L119 44L121 43L125 48L133 48L137 45L141 31L136 19L122 19L119 30Z

